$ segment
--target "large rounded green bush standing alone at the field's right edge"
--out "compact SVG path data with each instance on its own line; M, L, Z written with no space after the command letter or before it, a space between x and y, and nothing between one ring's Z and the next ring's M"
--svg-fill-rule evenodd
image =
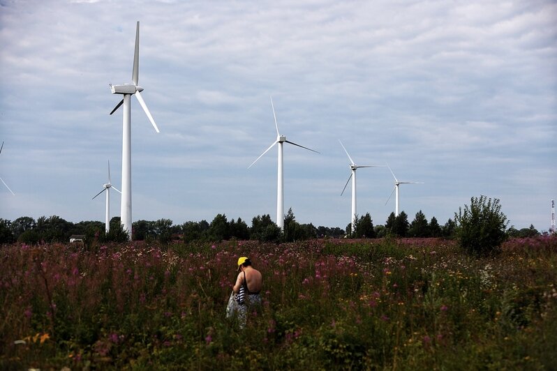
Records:
M454 214L456 241L475 255L487 255L498 249L507 238L507 217L501 212L499 199L472 197L470 207Z

